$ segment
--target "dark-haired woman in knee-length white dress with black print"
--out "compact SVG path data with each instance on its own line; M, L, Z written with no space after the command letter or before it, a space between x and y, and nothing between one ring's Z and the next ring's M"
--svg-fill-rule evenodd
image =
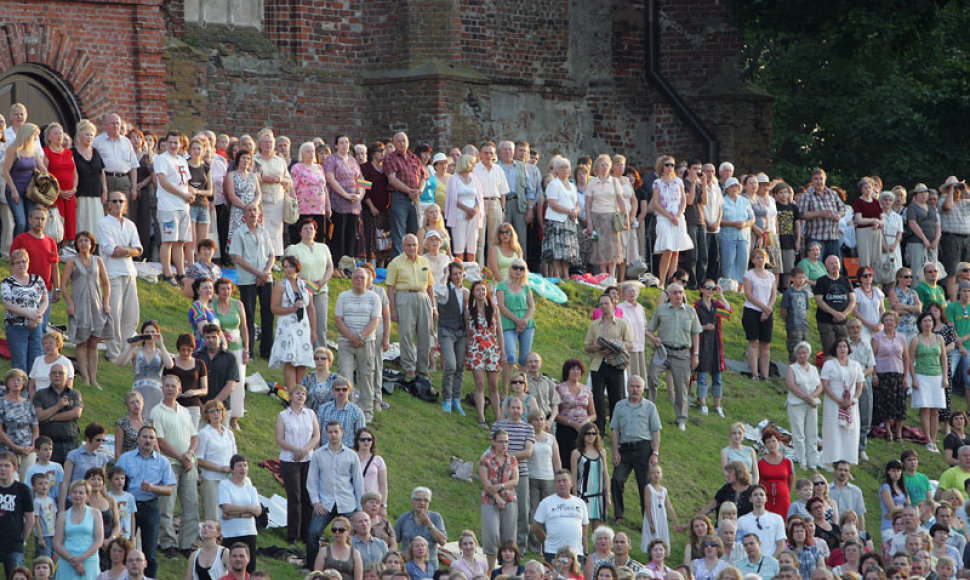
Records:
M270 308L277 316L276 338L269 357L270 368L283 367L287 388L299 385L312 368L316 316L306 282L298 276L302 265L294 256L283 258L284 278L273 284Z

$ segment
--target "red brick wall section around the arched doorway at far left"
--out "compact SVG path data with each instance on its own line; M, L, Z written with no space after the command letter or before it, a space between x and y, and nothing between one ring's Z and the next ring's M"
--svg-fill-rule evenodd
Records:
M85 117L165 126L162 0L0 1L0 70L31 63L64 80ZM112 26L98 23L110 22Z

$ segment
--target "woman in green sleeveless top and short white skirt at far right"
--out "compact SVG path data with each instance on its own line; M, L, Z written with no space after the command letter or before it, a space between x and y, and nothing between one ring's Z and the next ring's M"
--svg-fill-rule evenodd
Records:
M937 409L946 407L943 389L949 387L946 347L943 337L933 333L933 315L924 312L916 320L919 334L909 343L910 376L913 377L912 404L919 409L920 423L929 443L930 453L939 453L936 435L940 430L940 417Z

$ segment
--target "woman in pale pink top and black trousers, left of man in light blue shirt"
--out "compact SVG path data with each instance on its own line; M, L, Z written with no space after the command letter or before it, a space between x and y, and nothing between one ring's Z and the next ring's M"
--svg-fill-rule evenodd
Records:
M276 417L276 445L286 490L286 532L291 545L306 537L313 513L306 485L310 456L320 443L320 423L306 402L306 387L297 385L290 389L290 406Z

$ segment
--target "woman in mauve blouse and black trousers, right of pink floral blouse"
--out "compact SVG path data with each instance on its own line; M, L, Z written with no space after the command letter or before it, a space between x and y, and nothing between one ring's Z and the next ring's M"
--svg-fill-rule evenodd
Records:
M357 185L361 178L360 166L350 151L350 137L337 135L336 151L323 164L330 190L333 233L330 246L337 261L344 256L357 257L357 231L360 223L360 202L364 199L363 188Z

